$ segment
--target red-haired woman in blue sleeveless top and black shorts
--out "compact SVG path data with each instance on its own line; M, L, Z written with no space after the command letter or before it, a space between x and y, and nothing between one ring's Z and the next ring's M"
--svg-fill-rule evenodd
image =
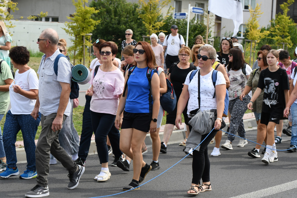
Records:
M160 80L153 70L156 66L154 52L149 43L144 41L138 42L133 52L137 66L129 70L132 72L129 79L129 73L126 72L127 90L124 89L115 120L116 128L121 128L120 148L133 160L133 179L123 188L124 191L138 190L139 183L151 170L151 166L143 161L141 146L147 132L157 131L160 106ZM151 83L148 77L151 78Z

